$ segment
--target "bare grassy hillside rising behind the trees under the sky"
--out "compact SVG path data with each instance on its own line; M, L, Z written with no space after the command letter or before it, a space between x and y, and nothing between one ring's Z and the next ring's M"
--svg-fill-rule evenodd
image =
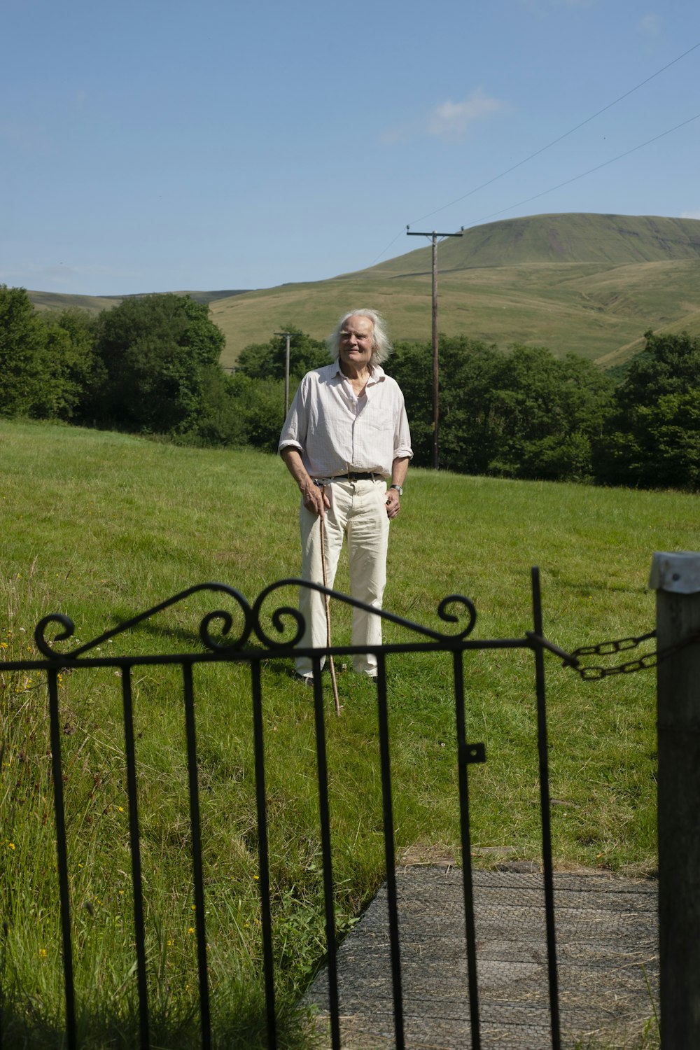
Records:
M627 360L648 329L700 323L700 220L553 214L487 223L439 249L440 328L505 349L546 345L606 365ZM430 337L431 249L327 280L250 292L190 292L226 335L222 363L295 326L323 338L345 310L372 306L395 339ZM115 298L30 292L41 309L102 310Z

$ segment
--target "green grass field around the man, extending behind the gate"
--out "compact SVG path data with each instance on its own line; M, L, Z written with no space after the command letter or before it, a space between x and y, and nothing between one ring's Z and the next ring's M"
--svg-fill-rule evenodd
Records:
M64 612L81 642L195 583L254 601L298 571L296 489L274 457L177 448L78 428L0 421L0 652L31 655L41 616ZM474 636L531 627L540 566L545 632L571 649L654 626L655 550L700 549L697 497L409 471L393 525L385 606L439 626L442 597L472 598ZM347 590L341 569L336 582ZM284 595L294 602L295 595ZM281 600L280 600L281 601ZM218 607L218 600L216 600ZM211 604L163 614L120 651L191 651ZM334 642L349 642L333 610ZM387 640L399 639L388 628ZM116 643L114 643L116 645ZM128 646L128 648L126 648ZM273 907L287 1045L289 1014L321 959L322 905L313 712L290 667L263 671ZM548 659L555 863L643 874L655 866L654 672L584 682ZM143 672L143 673L142 673ZM388 665L400 850L458 856L454 713L438 657ZM539 855L532 659L467 662L468 735L487 762L470 774L472 844ZM124 738L118 679L66 674L61 705L81 1032L87 1047L133 1032ZM217 1047L263 1045L252 728L242 669L198 675L197 739L209 958ZM196 1045L196 987L182 702L169 672L135 681L151 1002L160 1046ZM342 717L328 753L341 929L383 879L373 687L339 674ZM0 954L3 1047L60 1046L60 938L46 700L31 675L0 672ZM221 1033L226 1032L226 1036ZM194 1042L193 1042L194 1041Z

